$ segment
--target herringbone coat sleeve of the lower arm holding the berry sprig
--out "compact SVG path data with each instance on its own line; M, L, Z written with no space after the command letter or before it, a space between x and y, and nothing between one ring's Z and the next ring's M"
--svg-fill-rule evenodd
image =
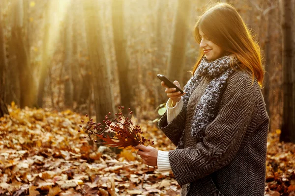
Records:
M230 78L229 78L230 80ZM246 73L229 81L223 104L195 147L169 151L172 172L180 186L228 165L239 150L255 107L255 90Z

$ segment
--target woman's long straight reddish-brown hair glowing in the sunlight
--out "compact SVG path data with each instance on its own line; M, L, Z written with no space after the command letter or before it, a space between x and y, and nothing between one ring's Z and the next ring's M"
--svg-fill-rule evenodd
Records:
M253 80L256 76L258 83L262 86L265 71L261 62L260 47L251 35L251 30L231 4L215 3L199 17L194 29L194 36L199 44L201 43L200 29L213 43L226 52L235 54L241 62L241 68L249 68L252 71ZM203 56L204 51L200 49L192 74L197 70Z

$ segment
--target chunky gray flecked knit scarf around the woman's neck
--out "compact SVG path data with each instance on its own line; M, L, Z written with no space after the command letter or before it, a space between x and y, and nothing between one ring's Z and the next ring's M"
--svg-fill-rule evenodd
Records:
M231 64L234 69L232 69ZM195 74L184 86L183 91L186 92L186 94L182 96L182 100L183 107L186 109L192 92L196 89L201 80L205 76L211 80L204 95L201 97L200 102L196 106L196 111L191 125L191 136L193 138L199 139L200 141L204 139L207 125L215 118L215 110L221 91L226 86L229 76L234 73L234 70L237 68L238 60L231 56L224 56L212 62L208 62L207 58L204 56L201 59L201 63L199 64ZM184 130L177 148L183 148L183 137Z

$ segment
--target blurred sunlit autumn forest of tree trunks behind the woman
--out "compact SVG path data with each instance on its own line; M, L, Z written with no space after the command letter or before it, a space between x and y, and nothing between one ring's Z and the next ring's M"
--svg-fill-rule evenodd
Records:
M214 2L1 0L0 117L43 108L102 122L123 105L139 122L160 118L168 98L156 75L186 84L199 52L194 25ZM270 133L295 143L295 0L222 2L236 7L263 51Z

